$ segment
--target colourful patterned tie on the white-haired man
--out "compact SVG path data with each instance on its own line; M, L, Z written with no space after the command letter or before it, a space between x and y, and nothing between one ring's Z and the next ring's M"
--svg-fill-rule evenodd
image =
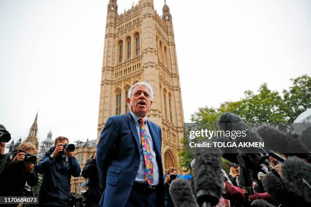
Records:
M139 120L139 125L140 125L141 146L143 148L143 155L145 160L145 180L151 186L153 183L153 165L152 159L150 157L150 149L147 139L147 132L144 118L141 118Z

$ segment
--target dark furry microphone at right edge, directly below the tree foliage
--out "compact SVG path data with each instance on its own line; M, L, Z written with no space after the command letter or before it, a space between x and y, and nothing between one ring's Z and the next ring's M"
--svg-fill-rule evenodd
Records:
M311 161L311 153L303 146L301 137L298 135L285 133L269 125L260 126L256 131L268 148L288 156L297 156Z

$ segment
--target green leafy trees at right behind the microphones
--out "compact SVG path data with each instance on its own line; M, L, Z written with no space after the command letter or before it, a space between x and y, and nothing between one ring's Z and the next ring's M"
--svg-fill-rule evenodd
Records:
M303 75L291 79L292 86L288 90L283 90L283 97L277 91L268 89L264 83L260 86L258 93L247 90L244 97L238 101L221 103L220 107L199 108L191 116L191 121L204 126L213 126L221 114L231 112L238 115L244 122L251 125L263 123L291 124L299 114L311 108L311 77ZM184 139L186 140L186 139ZM186 146L187 143L183 143ZM183 149L179 155L181 166L190 170L190 162L194 159L195 153L191 149ZM223 160L223 167L227 167L229 162ZM230 163L231 164L231 163Z

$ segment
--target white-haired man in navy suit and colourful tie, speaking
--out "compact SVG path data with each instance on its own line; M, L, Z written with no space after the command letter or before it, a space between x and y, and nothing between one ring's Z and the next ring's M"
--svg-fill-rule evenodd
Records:
M138 82L129 89L128 114L107 119L97 146L97 165L106 186L104 207L164 206L161 128L146 117L152 87Z

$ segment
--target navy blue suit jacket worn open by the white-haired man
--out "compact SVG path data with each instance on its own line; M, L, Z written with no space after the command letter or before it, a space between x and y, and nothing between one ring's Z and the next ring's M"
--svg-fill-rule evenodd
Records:
M159 206L164 206L161 128L149 120L147 124L159 166ZM108 118L97 146L100 182L106 185L100 206L125 206L137 176L140 151L141 145L131 113Z

